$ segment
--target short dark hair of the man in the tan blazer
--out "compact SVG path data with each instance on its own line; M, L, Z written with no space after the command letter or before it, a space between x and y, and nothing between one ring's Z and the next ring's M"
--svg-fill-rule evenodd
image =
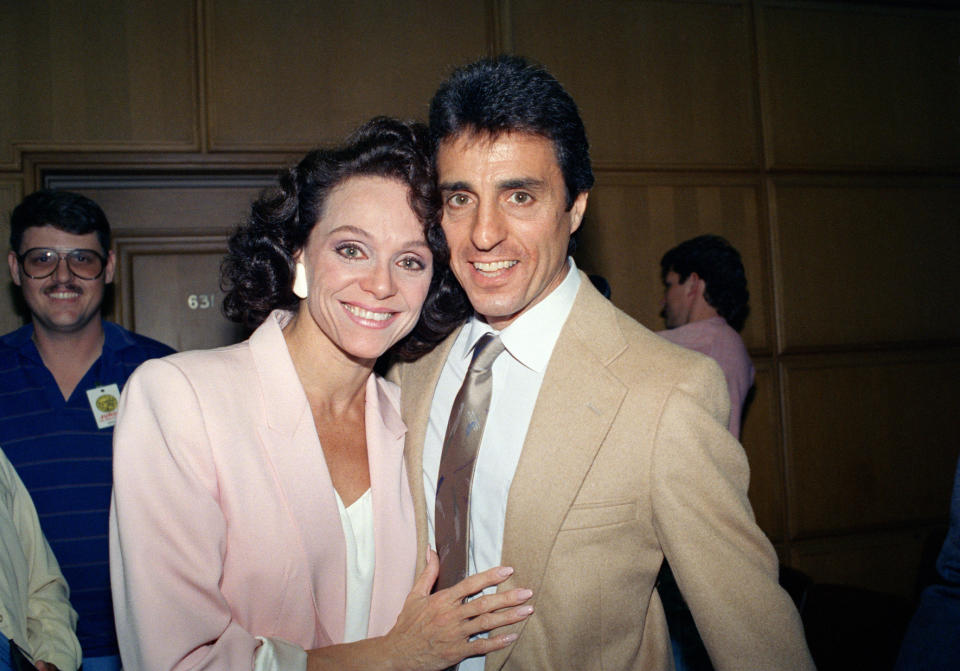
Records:
M541 135L553 143L567 187L567 210L593 186L590 145L577 104L542 67L519 56L485 58L454 70L430 101L435 147L461 134L511 132ZM575 237L570 242L572 253Z

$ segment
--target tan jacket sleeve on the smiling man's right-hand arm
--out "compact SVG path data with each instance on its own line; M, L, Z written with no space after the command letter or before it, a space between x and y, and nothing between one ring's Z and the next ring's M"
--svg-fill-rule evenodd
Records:
M715 668L812 669L747 499L746 455L724 428L726 396L706 359L667 396L651 472L656 532Z

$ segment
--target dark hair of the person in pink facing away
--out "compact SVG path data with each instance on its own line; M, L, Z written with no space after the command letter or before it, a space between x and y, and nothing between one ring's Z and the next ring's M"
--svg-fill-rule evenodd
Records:
M681 282L696 273L706 282L704 298L739 331L750 312L750 292L740 252L719 235L701 235L682 242L660 259L660 277L675 272Z

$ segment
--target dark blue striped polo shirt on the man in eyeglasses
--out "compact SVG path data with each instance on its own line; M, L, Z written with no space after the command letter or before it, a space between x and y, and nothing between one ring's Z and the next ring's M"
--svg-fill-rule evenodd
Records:
M173 349L103 322L103 351L63 400L28 324L0 337L0 445L17 469L70 585L84 657L117 654L107 524L113 428L98 429L87 390L116 383Z

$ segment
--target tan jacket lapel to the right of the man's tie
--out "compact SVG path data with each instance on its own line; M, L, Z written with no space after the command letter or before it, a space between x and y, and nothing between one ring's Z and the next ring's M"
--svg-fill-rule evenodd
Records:
M586 277L581 279L540 387L507 502L502 563L515 573L500 589L527 587L534 599L557 533L626 395L606 368L626 347L615 309ZM524 625L502 633L522 632ZM512 648L487 655L485 668L502 667Z

